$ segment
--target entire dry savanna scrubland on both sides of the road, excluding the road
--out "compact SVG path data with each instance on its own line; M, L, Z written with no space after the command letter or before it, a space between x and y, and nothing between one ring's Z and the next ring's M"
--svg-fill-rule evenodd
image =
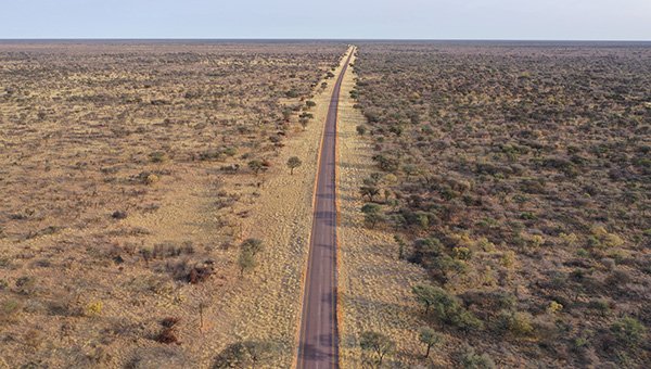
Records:
M651 47L356 44L342 367L651 366ZM0 367L291 367L346 48L2 42Z

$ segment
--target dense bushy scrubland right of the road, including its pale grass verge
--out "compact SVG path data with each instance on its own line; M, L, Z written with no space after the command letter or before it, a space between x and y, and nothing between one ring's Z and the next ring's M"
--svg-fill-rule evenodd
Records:
M650 367L651 46L356 46L342 366Z

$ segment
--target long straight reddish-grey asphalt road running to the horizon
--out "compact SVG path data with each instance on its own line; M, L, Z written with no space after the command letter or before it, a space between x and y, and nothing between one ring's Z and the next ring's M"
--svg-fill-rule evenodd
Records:
M339 368L336 325L336 118L342 80L350 55L336 79L317 169L317 190L303 297L297 368Z

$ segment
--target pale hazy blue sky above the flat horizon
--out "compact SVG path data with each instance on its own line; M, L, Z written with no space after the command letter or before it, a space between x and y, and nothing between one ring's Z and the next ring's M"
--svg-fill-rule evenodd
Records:
M651 40L651 0L0 1L0 38Z

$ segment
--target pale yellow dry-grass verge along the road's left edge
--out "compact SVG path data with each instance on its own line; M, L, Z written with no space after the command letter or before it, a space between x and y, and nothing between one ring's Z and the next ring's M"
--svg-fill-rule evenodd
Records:
M342 65L333 72L335 76ZM311 111L314 119L305 132L285 141L278 166L265 175L270 178L258 191L255 212L242 226L243 239L258 238L265 243L260 266L255 275L245 276L219 307L234 322L233 342L267 339L278 343L280 357L273 368L290 368L295 355L318 152L334 80L326 80L323 90L318 88L320 92L312 99L317 103ZM291 156L303 161L293 175L285 166Z

